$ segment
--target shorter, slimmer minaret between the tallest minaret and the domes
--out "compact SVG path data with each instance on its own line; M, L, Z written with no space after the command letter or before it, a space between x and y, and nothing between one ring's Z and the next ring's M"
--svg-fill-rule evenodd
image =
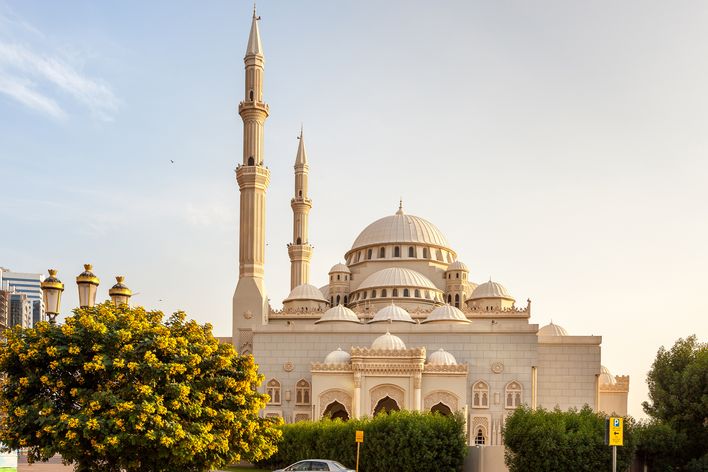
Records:
M310 282L312 246L307 237L307 226L312 200L307 197L307 153L300 128L300 144L295 157L295 196L290 200L293 209L293 242L288 244L290 256L290 290Z

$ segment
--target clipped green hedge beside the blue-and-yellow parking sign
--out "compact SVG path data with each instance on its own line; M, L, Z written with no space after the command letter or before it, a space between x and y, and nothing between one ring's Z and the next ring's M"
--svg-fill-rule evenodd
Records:
M611 470L606 419L587 405L579 411L517 408L504 425L506 465L510 472ZM624 446L617 448L618 470L626 470L631 463L632 429L633 421L627 418Z

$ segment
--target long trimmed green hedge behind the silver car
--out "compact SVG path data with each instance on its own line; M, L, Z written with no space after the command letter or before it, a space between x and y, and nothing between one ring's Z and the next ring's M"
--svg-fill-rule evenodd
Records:
M467 454L464 419L410 411L374 418L302 421L282 426L278 452L259 467L279 468L302 459L333 459L356 464L357 430L364 431L360 472L387 470L462 470Z

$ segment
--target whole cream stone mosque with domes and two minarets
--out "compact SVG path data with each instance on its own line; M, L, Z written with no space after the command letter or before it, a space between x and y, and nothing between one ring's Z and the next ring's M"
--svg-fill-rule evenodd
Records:
M517 304L499 281L474 282L445 235L402 204L353 238L327 285L312 285L312 199L302 133L291 200L291 291L283 309L273 309L264 273L269 108L255 12L244 62L232 342L252 354L265 375L270 403L264 415L295 422L398 409L461 412L469 444L484 446L503 444L505 418L520 405L587 404L626 415L629 377L602 366L601 336L571 335L553 323L539 328L531 322L530 300Z

